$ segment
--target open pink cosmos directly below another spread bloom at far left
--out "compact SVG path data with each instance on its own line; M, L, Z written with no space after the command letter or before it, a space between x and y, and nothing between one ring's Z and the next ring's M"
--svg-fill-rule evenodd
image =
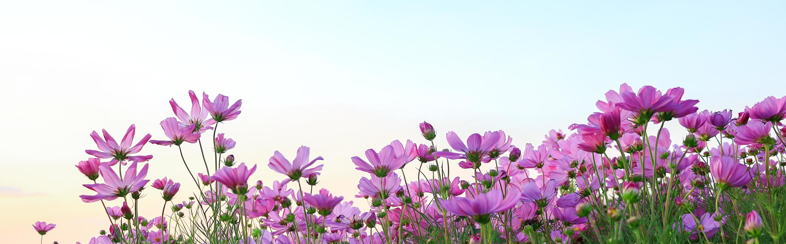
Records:
M115 170L112 170L108 165L99 166L99 169L101 169L101 177L104 178L104 183L83 184L84 187L96 191L97 195L80 195L82 202L97 202L123 197L131 192L139 191L150 181L145 180L148 164L142 166L142 169L137 173L137 162L132 162L131 166L126 170L126 176L123 177L123 180L120 180Z

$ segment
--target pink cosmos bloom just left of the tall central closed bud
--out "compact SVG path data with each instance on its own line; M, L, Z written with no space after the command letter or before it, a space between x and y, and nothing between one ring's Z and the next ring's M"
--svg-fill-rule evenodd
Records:
M417 153L417 151L416 151ZM434 155L436 152L432 153ZM382 151L376 153L374 149L369 149L365 151L365 158L369 159L369 162L363 161L363 159L355 156L352 157L352 162L354 162L355 166L358 166L355 169L372 173L376 177L385 177L388 173L391 173L393 170L401 169L406 164L407 157L396 157L395 150L390 145L387 145L382 148Z

